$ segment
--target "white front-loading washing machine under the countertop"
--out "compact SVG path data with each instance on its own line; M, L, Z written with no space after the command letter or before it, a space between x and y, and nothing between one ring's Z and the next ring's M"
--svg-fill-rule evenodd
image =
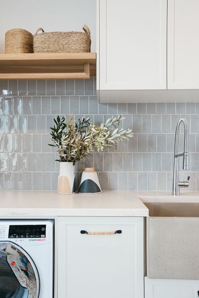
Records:
M53 298L53 220L0 220L0 297Z

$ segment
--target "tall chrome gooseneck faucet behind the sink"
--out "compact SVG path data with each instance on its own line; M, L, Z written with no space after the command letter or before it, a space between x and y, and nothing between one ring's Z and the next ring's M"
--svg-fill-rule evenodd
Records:
M183 123L185 127L185 139L184 139L184 153L178 154L178 140L179 140L179 128L180 124ZM189 138L189 129L187 119L180 118L177 122L176 131L175 131L175 146L174 146L174 167L173 167L173 195L179 196L179 188L188 188L189 179L187 181L179 181L178 175L178 157L183 156L183 170L188 170L188 138Z

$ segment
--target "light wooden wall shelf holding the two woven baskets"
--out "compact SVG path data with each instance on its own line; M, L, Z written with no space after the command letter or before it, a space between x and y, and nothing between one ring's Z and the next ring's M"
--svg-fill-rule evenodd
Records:
M89 79L96 53L0 54L0 79Z

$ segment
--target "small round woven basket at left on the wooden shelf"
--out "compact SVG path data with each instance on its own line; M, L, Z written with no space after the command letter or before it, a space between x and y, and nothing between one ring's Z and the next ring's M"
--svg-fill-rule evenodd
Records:
M7 31L5 53L33 53L33 35L20 28Z

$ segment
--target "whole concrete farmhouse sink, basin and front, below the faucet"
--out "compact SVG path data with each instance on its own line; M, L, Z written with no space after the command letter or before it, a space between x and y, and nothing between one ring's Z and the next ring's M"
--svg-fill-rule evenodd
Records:
M147 276L199 280L199 197L144 197Z

